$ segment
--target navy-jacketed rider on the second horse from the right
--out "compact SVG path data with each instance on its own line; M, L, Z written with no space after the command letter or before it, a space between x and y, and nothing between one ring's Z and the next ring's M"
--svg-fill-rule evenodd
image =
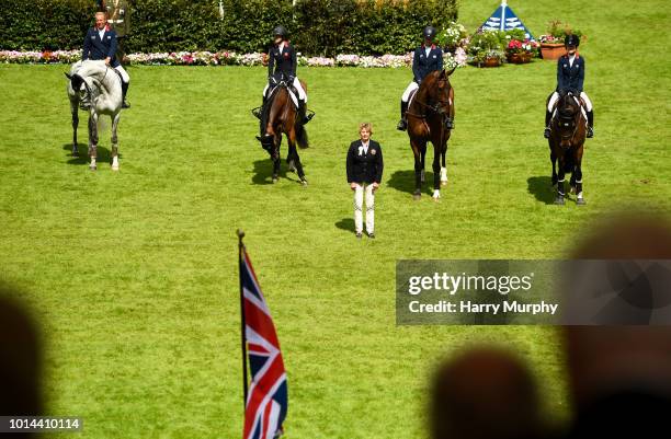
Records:
M408 101L410 100L410 93L413 90L419 89L424 77L434 70L443 70L443 50L433 44L435 37L435 27L424 27L423 37L424 42L421 46L414 49L414 56L412 57L412 82L406 88L401 96L401 119L397 125L397 129L405 131L408 128L408 120L406 119L406 112L408 111ZM446 126L452 128L452 122L448 120Z

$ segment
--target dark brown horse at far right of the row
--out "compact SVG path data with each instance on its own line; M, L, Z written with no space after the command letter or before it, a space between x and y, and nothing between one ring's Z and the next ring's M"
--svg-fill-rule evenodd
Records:
M549 97L548 97L549 100ZM576 204L584 205L582 196L582 150L587 135L587 117L578 97L572 93L560 93L550 120L550 161L553 162L553 185L557 184L556 205L564 205L565 176L571 174L571 192ZM546 103L547 105L547 103ZM558 163L558 169L555 163Z

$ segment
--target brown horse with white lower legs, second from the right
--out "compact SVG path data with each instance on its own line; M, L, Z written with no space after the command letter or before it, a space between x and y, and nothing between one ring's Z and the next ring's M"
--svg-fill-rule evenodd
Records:
M436 70L427 74L419 90L412 97L406 113L408 117L408 136L414 154L414 199L420 199L424 182L424 157L427 142L433 143L433 198L441 197L441 183L447 184L447 139L451 129L446 127L454 118L454 90L448 77L454 72Z

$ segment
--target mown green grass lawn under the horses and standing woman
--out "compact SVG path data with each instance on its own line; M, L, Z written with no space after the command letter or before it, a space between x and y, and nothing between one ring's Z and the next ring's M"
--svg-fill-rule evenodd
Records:
M460 21L473 28L496 5L464 2ZM423 437L433 366L476 342L527 359L548 418L566 419L555 330L397 327L395 264L558 258L613 210L670 211L671 18L664 1L511 7L535 34L559 18L588 35L596 137L585 147L583 208L551 205L549 61L454 73L440 203L429 185L412 201L412 154L395 129L409 69L299 69L317 112L311 147L299 151L304 188L291 173L272 185L253 138L262 68L130 68L113 173L109 131L98 172L69 157L65 66L0 66L0 276L43 325L48 413L82 416L82 437L239 437L242 228L284 350L287 438ZM375 241L354 239L344 173L363 120L385 155Z

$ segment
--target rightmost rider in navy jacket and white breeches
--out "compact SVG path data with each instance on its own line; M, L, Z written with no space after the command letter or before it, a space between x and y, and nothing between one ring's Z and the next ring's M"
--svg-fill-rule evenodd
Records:
M547 139L550 136L550 120L555 104L559 99L559 92L571 92L573 96L581 97L584 102L588 118L587 137L594 137L594 109L592 101L582 90L584 83L584 58L578 54L580 38L578 35L567 35L565 42L566 55L557 60L557 89L550 95L545 108L545 130L543 136Z

